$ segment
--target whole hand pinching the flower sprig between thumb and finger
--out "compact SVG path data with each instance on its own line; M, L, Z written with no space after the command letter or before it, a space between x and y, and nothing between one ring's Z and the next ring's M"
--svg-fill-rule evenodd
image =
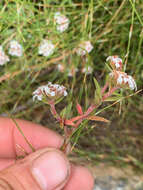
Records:
M37 151L31 153L11 119L0 118L0 190L93 189L90 172L71 164L58 150L63 142L61 136L28 121L16 122ZM16 161L24 150L30 154Z

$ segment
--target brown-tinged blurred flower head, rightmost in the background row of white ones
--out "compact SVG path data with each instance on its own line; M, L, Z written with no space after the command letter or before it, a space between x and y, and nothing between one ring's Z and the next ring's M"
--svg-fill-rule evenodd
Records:
M79 44L78 48L76 48L75 51L79 56L83 56L83 55L86 55L87 53L90 53L92 49L93 49L93 46L90 43L90 41L84 41Z

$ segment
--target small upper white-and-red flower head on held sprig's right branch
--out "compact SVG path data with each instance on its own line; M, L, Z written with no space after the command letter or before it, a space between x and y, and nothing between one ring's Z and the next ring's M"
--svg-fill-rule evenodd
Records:
M110 65L113 70L122 70L122 59L119 58L117 55L107 57L106 61L110 62Z

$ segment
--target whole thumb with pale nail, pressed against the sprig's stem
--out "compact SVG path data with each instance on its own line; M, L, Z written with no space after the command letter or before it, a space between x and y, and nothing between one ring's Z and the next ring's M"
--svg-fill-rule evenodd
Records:
M0 172L0 190L60 190L68 180L70 164L56 149L38 150Z

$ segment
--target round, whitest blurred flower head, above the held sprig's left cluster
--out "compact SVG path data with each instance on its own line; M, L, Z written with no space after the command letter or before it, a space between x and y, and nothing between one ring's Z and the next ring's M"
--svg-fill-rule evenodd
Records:
M43 40L39 46L39 55L48 57L54 53L55 46L50 40Z

